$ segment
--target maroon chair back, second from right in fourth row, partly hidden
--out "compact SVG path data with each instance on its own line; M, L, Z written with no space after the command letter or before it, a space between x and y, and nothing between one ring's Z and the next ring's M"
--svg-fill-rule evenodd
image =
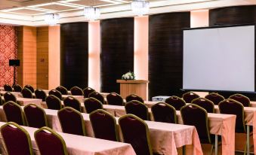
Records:
M204 108L205 111L207 111L208 113L214 113L214 103L208 99L199 97L197 99L193 99L191 103L194 105L199 105L200 107Z

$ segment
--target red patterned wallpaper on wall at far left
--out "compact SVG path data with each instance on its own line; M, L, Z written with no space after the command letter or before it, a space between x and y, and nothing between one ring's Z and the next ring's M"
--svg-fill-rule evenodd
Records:
M9 67L9 59L17 59L17 29L0 25L0 87L14 83L14 68Z

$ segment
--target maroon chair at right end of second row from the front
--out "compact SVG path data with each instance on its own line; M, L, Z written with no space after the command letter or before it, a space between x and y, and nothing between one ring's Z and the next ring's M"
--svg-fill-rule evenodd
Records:
M147 123L134 114L119 118L119 126L125 143L131 144L137 155L153 155Z

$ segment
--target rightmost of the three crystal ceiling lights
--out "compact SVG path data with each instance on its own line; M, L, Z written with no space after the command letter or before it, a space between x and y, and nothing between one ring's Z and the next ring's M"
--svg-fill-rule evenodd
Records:
M145 0L134 0L131 2L131 10L137 16L143 16L147 14L150 10L150 2Z

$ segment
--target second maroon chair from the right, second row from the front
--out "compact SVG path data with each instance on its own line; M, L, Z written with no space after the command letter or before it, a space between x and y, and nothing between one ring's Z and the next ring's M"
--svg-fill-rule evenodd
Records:
M91 112L90 122L95 138L119 141L116 118L112 114L98 109Z

